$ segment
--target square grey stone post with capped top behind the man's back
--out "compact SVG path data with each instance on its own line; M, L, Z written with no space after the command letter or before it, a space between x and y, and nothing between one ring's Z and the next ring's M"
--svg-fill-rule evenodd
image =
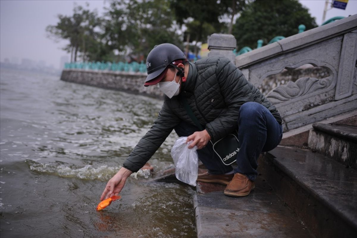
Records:
M230 59L235 64L235 54L233 50L236 49L237 40L231 34L212 34L208 38L208 56L222 56Z

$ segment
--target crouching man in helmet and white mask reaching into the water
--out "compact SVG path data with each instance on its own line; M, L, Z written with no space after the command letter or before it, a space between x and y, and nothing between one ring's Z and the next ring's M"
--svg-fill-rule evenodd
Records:
M282 120L276 108L225 57L191 63L177 46L161 44L150 51L146 61L144 86L158 83L165 94L164 104L150 130L107 183L101 200L119 194L127 177L144 166L172 130L192 141L189 148L198 148L198 158L208 172L199 174L197 181L227 184L227 196L247 196L255 188L259 154L275 148L282 138ZM191 120L182 97L204 130ZM208 142L235 130L240 151L233 170L222 163Z

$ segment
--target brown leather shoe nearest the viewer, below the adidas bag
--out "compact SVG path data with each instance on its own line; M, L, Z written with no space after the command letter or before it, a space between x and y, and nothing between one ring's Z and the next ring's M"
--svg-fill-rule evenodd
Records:
M228 183L224 194L231 197L244 197L255 188L254 182L241 173L234 174L231 182Z

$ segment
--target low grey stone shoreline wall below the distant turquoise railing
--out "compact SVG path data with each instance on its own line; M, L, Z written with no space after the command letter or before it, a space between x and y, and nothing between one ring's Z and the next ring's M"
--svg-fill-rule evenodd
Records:
M64 69L61 80L105 89L126 91L155 98L164 94L158 85L144 87L146 73Z

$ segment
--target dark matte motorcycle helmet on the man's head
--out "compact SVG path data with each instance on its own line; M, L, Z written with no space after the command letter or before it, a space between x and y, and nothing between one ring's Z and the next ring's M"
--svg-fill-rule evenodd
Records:
M167 66L174 66L172 62L179 59L186 60L186 56L176 45L169 43L156 45L146 58L147 77L145 86L151 85L147 82L159 76Z

